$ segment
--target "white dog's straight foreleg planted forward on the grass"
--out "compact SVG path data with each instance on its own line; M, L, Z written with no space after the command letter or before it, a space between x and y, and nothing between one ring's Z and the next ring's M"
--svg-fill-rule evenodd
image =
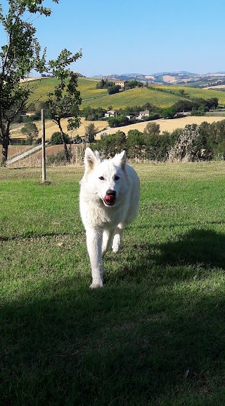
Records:
M101 245L103 241L103 230L89 228L86 230L86 247L91 262L92 283L90 288L103 287L103 269L101 265Z

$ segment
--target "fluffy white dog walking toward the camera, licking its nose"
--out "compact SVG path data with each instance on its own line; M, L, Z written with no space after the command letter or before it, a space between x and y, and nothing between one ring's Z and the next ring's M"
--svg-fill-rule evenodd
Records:
M103 286L102 254L120 247L122 232L138 214L139 177L126 164L126 152L101 160L97 151L86 148L84 176L80 181L79 209L86 230L91 262L90 288Z

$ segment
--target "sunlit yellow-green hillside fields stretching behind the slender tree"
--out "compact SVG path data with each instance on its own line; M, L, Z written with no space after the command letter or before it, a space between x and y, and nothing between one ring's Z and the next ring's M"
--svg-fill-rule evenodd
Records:
M47 93L53 90L57 84L55 78L44 80L33 80L30 82L33 93L30 96L29 104L37 101L46 101ZM219 104L225 104L225 92L219 90L204 90L192 87L152 85L150 87L135 88L109 95L106 89L96 89L96 80L89 78L78 78L78 90L81 92L82 106L91 106L92 108L103 107L108 109L113 106L114 109L124 108L126 106L143 106L147 102L153 106L161 108L172 106L179 99L190 99L201 97L210 99L217 97ZM184 94L181 94L184 90Z

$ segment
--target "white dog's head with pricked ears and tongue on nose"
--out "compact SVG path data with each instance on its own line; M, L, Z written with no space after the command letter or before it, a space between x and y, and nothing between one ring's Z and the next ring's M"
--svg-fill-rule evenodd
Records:
M90 199L101 199L105 207L113 207L122 192L126 192L126 152L101 160L97 151L86 148L84 166Z

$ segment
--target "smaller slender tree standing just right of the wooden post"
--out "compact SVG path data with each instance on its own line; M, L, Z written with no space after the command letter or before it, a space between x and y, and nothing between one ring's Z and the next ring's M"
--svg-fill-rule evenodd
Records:
M76 54L63 49L56 60L49 61L49 68L52 70L53 76L58 79L54 92L49 92L46 104L49 108L51 119L58 125L63 141L65 158L70 162L70 152L68 150L61 119L70 116L68 120L68 131L79 128L79 104L82 99L77 90L77 75L72 73L68 68L71 63L81 58L82 51L79 50Z

